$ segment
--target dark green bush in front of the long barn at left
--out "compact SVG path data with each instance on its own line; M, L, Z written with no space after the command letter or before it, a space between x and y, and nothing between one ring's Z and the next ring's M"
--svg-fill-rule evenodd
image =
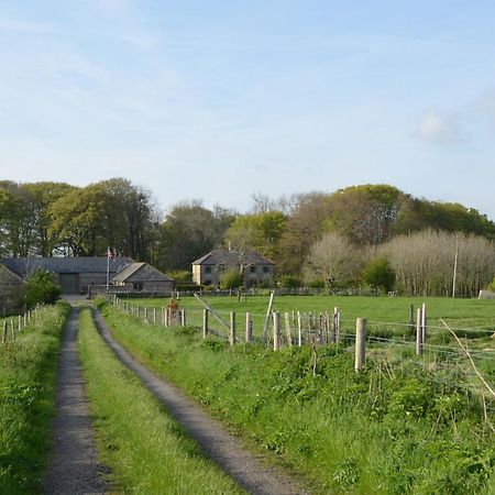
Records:
M34 308L36 305L53 305L61 298L61 287L55 284L54 274L46 270L33 272L25 284L15 294L15 300L21 308Z

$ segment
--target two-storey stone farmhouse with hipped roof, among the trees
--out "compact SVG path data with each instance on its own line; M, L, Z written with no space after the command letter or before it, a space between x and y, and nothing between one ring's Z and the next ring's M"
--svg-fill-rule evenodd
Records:
M241 258L242 257L242 258ZM275 264L255 251L242 256L235 250L216 249L193 262L193 280L198 285L220 285L222 274L244 265L244 287L273 286Z

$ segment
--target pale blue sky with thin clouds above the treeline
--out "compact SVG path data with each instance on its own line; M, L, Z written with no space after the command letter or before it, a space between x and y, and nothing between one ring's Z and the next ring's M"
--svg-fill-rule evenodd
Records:
M163 209L359 184L495 220L493 0L0 0L0 178Z

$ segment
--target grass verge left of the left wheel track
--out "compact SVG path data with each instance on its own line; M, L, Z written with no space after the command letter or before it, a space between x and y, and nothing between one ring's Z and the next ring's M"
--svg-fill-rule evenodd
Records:
M44 307L0 343L0 493L40 493L55 413L61 334L70 308Z

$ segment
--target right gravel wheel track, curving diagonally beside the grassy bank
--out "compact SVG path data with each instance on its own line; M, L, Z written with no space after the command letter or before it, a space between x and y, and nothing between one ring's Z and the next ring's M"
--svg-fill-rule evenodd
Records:
M240 441L231 437L217 421L208 417L184 393L162 380L113 340L101 314L92 309L100 336L121 362L133 371L166 410L187 430L204 453L217 462L235 482L253 495L309 494L297 482L275 468L263 464Z

